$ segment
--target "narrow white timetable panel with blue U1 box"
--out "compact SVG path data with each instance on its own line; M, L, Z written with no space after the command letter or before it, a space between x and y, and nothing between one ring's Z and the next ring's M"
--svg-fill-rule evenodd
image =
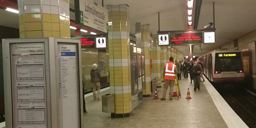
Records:
M79 128L79 75L76 44L58 44L60 127ZM72 123L70 123L72 122Z

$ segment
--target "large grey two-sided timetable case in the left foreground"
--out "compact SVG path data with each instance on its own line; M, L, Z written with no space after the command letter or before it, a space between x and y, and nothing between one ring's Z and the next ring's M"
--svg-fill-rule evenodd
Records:
M6 128L83 128L77 39L3 39Z

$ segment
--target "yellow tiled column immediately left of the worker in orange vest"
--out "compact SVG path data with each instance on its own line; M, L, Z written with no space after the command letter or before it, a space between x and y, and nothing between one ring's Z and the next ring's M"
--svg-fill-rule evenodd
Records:
M153 48L151 48L151 57L152 57L152 77L155 77L156 80L161 80L161 55L160 47L157 41L157 35L152 35L153 38ZM159 81L157 81L159 82Z

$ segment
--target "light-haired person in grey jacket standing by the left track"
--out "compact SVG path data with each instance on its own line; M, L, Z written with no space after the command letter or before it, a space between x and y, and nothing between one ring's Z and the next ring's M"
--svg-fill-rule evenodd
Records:
M91 83L92 83L92 93L94 100L100 100L100 71L97 69L97 64L92 64L91 70ZM96 94L97 89L97 94Z

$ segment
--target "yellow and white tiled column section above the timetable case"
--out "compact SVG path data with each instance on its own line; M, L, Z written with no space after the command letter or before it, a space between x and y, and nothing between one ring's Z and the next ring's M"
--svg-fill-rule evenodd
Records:
M69 0L18 0L20 38L70 38Z

